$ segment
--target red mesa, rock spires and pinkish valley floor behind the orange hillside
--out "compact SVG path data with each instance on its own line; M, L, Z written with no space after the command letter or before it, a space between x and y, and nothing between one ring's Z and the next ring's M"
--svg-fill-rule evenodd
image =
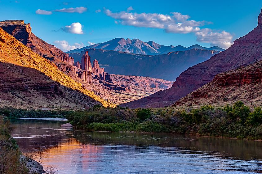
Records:
M94 60L92 66L88 60L90 59L88 53L86 55L83 52L82 54L85 55L83 59L81 55L79 60L74 62L67 53L35 36L29 23L25 24L22 20L7 20L1 21L0 26L32 51L54 62L60 71L81 83L83 87L115 104L137 100L172 86L173 82L170 81L151 78L152 83L148 83L148 77L137 76L132 80L121 76L111 81L110 74L104 72L104 68L100 68L97 60Z

